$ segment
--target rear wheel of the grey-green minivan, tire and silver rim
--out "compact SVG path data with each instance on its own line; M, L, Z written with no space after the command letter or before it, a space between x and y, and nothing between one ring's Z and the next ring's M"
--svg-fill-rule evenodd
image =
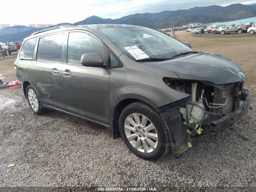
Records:
M34 112L34 114L40 115L49 110L47 108L42 108L36 91L32 85L27 86L26 96L28 99L28 105L30 106L30 109Z

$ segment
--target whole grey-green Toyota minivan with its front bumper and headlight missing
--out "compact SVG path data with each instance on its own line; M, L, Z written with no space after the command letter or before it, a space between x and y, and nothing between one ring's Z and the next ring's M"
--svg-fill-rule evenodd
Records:
M98 123L145 160L169 150L180 157L198 136L219 136L252 101L233 60L140 26L40 30L24 39L14 67L35 114Z

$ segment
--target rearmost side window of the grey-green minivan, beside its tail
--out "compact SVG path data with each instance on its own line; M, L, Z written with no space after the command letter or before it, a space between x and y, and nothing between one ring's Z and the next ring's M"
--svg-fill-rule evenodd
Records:
M20 50L19 59L32 60L34 48L36 46L36 40L37 40L37 37L34 37L24 42L24 45Z

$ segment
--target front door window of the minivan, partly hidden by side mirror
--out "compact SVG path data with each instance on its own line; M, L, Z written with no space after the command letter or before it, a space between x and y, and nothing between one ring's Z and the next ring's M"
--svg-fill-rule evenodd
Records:
M83 32L70 32L68 36L68 63L81 64L81 56L86 53L99 53L103 45L94 36Z

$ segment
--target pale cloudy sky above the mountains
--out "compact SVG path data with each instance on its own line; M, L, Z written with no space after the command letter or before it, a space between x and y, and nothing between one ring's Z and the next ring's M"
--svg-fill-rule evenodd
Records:
M134 13L156 13L210 5L228 6L236 3L256 4L256 0L15 0L12 2L15 2L14 14L2 18L0 25L50 25L62 22L74 23L93 15L116 19Z

